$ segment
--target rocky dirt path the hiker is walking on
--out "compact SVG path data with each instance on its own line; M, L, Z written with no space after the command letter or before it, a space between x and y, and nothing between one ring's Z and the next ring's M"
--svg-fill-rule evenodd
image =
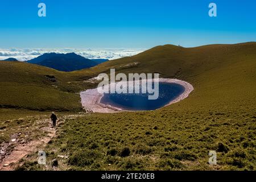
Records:
M72 115L73 117L73 115ZM59 118L57 126L65 122L69 117ZM0 171L14 170L20 159L32 152L43 149L46 144L56 136L56 130L51 128L51 119L44 118L35 122L34 126L28 127L27 131L37 131L37 138L26 137L26 140L19 140L18 134L13 134L9 143L5 143L0 148Z

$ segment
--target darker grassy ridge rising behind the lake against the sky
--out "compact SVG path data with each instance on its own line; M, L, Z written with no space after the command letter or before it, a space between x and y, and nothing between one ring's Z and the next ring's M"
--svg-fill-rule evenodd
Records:
M194 48L158 46L138 55L111 60L93 68L95 72L116 68L122 72L158 72L162 77L189 79L213 68L255 58L256 43L214 44ZM139 63L134 67L129 64ZM77 71L84 72L84 71ZM88 71L86 71L88 72Z

